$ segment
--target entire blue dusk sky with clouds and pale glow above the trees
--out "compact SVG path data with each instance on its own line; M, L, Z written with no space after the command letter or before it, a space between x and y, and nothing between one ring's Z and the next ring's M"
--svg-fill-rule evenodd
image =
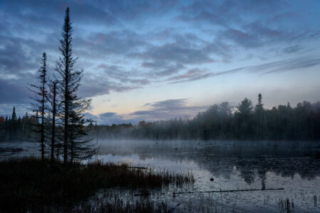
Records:
M192 119L245 97L320 101L320 1L0 1L0 114L29 111L41 54L55 75L66 8L79 96L98 124Z

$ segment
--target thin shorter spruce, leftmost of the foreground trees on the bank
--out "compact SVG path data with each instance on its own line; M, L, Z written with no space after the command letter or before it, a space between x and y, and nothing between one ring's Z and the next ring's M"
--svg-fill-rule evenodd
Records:
M40 80L39 85L30 84L31 88L30 90L33 92L34 97L31 99L33 102L31 103L33 107L33 112L36 112L36 119L39 119L40 112L40 118L41 123L39 124L36 122L36 130L35 132L39 135L39 142L41 147L41 160L44 159L44 146L45 146L45 116L46 116L46 99L47 99L47 89L46 89L46 75L47 75L47 65L46 65L46 53L42 53L42 59L41 59L41 67L38 70L38 73L40 74L38 76L38 79Z

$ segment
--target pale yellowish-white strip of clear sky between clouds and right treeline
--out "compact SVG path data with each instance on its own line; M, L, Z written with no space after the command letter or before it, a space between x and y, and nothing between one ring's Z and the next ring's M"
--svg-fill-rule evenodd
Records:
M145 107L145 104L167 99L187 99L187 106L209 107L225 101L237 105L247 97L256 104L257 94L260 92L267 108L287 102L295 106L304 100L310 102L317 100L316 94L312 93L314 87L319 88L316 78L313 77L316 69L309 71L311 72L304 70L304 72L279 73L277 78L274 78L274 75L236 73L232 79L229 75L225 75L180 84L153 84L128 92L110 92L93 97L91 114L98 116L105 112L114 112L130 119L132 116L129 114L150 109ZM291 78L288 78L288 74ZM305 86L301 87L301 84Z

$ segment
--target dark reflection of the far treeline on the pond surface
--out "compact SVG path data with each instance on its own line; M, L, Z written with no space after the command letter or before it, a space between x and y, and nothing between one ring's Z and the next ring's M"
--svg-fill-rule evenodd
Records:
M212 175L229 179L235 170L251 185L257 178L265 181L268 172L284 178L313 180L320 176L320 160L316 143L250 143L195 141L105 141L100 154L132 155L140 160L168 159L175 162L195 162Z

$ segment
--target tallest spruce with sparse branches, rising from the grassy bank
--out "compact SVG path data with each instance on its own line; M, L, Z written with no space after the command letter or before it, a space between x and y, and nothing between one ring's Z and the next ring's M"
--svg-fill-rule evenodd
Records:
M90 107L91 99L78 97L77 91L80 86L83 70L75 70L74 65L77 58L73 58L72 51L72 26L69 16L69 9L66 9L64 18L62 39L59 50L59 58L56 70L60 75L59 94L61 94L62 106L59 113L63 121L63 163L71 163L76 158L88 158L95 153L90 146L91 140L86 138L86 131L83 131L84 112Z

